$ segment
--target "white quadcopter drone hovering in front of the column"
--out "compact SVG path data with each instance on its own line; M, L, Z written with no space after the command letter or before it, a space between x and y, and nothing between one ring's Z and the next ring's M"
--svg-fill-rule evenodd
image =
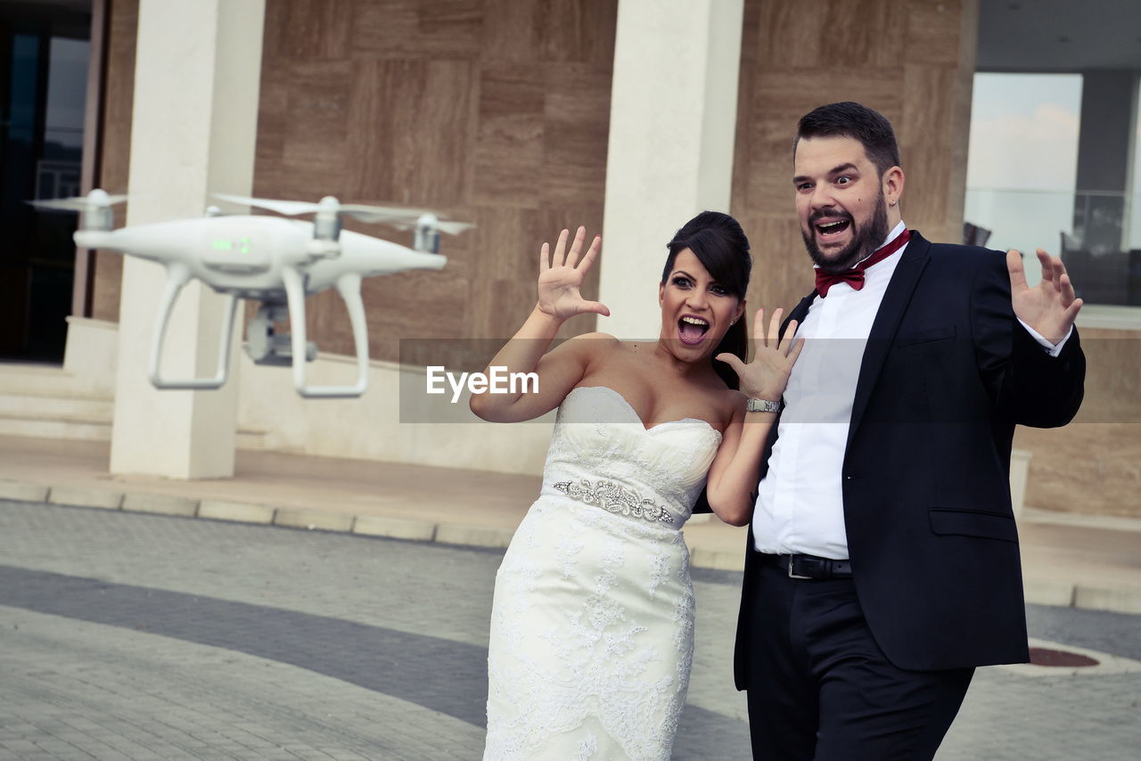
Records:
M207 216L151 225L114 227L111 207L127 196L100 189L87 196L33 201L42 209L79 211L75 245L81 249L119 251L167 267L167 284L159 307L159 322L151 341L151 382L161 389L213 389L229 374L230 338L238 299L260 301L246 331L245 350L258 364L293 366L293 386L302 397L355 397L369 384L369 335L361 299L361 281L406 269L442 269L447 259L438 253L439 234L455 235L472 227L440 220L419 209L342 204L332 196L319 203L272 201L218 195L233 203L268 209L282 214L314 213L313 222L269 216L224 217L217 207ZM380 238L341 229L341 214L397 228L415 228L408 249ZM163 378L162 345L167 323L183 286L197 277L229 297L218 349L218 370L212 378ZM306 340L305 299L335 288L349 313L356 347L357 382L354 386L309 386L306 362L317 356ZM274 323L289 318L292 335L277 335Z

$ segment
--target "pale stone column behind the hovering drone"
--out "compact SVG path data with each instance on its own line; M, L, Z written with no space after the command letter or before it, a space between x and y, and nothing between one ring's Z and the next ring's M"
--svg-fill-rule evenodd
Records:
M265 0L140 0L127 222L203 213L253 184ZM219 390L155 389L147 373L163 267L128 257L119 316L111 471L234 473L237 363ZM213 374L222 298L191 283L167 333L163 373Z

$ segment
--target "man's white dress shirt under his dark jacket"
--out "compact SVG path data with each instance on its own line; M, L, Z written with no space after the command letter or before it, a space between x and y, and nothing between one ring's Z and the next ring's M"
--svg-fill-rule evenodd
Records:
M900 221L883 245L905 229ZM753 542L759 552L848 559L840 473L856 381L872 323L906 249L907 244L869 267L859 291L848 283L833 284L827 298L812 301L796 331L806 339L804 348L785 388L777 440L753 511ZM1067 334L1053 346L1022 325L1053 356L1069 339Z

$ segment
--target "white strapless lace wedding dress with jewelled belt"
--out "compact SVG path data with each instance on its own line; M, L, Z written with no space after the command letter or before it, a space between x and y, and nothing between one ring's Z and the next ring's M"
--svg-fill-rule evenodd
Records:
M702 420L647 430L606 387L567 395L495 580L485 761L670 758L694 651L680 528L720 443Z

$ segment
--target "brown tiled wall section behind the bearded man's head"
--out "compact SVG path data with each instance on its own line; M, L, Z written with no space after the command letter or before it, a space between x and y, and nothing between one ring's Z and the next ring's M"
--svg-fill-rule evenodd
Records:
M904 219L960 240L977 14L977 0L746 0L733 212L753 244L753 305L791 308L812 288L792 138L825 103L857 100L891 120Z

